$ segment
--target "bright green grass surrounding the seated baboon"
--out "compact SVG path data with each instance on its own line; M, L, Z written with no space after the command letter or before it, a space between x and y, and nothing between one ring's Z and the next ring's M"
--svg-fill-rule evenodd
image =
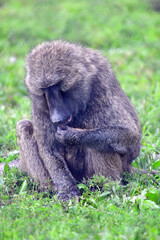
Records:
M18 157L16 123L30 118L23 83L26 54L43 41L65 39L99 49L112 63L142 125L141 154L133 165L160 169L157 4L159 0L0 0L0 162ZM61 204L6 166L0 178L0 239L160 239L159 176L130 176L129 182L121 186L95 178L79 186L79 203Z

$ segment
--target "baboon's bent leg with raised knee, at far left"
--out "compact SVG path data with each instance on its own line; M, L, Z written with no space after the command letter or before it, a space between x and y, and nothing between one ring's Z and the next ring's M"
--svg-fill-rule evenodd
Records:
M17 123L17 142L20 149L20 168L38 181L42 189L46 188L51 179L39 156L30 120L25 119Z

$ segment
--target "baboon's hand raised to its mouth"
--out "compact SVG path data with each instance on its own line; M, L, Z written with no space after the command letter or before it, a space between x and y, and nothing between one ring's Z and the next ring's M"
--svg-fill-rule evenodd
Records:
M64 145L74 145L77 142L77 131L68 126L58 127L55 137Z

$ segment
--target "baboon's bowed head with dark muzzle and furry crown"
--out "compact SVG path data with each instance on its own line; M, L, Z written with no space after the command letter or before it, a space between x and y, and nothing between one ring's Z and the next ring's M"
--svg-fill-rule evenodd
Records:
M31 94L45 96L53 123L67 124L86 109L96 74L94 56L87 51L53 41L38 45L27 57L26 86Z

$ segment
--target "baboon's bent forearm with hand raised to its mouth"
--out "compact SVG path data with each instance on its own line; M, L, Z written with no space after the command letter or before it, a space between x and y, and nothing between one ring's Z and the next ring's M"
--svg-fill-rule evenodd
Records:
M103 129L58 129L56 138L62 143L95 148L99 151L125 154L139 141L138 133L127 128L109 126ZM134 150L134 149L133 149Z

